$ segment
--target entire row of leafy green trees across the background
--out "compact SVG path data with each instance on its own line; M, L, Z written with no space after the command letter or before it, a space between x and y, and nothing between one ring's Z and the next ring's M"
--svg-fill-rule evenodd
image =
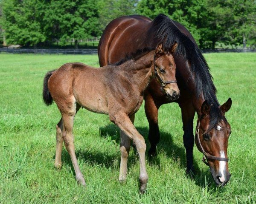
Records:
M255 0L0 0L0 43L78 47L116 17L160 13L188 28L200 48L256 46Z

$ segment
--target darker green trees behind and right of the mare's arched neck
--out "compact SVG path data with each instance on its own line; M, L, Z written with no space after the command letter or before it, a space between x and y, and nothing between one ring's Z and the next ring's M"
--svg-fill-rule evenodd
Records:
M137 12L154 19L169 15L192 33L200 48L241 45L243 37L256 44L256 1L254 0L141 0Z

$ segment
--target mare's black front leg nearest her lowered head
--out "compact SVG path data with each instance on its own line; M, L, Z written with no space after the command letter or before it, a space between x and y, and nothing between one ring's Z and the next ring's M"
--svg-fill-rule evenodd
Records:
M195 116L195 108L192 104L192 100L179 103L182 114L183 122L183 144L186 148L186 172L194 173L193 167L193 147L194 147L194 135L193 135L193 120Z

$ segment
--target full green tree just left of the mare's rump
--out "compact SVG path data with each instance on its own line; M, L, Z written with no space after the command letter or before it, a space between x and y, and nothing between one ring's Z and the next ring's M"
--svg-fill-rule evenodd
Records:
M59 39L61 45L74 40L78 48L78 40L100 36L96 4L97 0L51 1L44 16L47 39Z

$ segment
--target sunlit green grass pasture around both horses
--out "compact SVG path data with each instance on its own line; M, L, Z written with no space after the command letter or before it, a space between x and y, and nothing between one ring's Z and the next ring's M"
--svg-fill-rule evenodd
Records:
M140 195L139 161L133 148L127 182L119 184L119 130L106 115L82 109L75 118L76 155L87 187L76 183L64 147L63 168L54 168L60 112L55 104L47 107L42 101L44 74L66 62L99 66L97 56L0 54L0 203L256 203L256 53L205 57L219 102L233 100L226 113L232 127L230 182L215 186L196 147L196 175L186 177L180 108L172 103L160 108L158 156L147 157L148 190ZM148 144L143 106L135 126Z

